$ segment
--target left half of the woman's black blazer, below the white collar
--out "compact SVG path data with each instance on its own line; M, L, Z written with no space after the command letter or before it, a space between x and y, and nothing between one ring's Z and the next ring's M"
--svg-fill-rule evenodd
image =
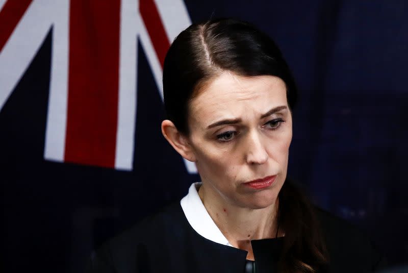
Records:
M235 272L245 257L245 251L200 236L176 203L106 242L86 272Z

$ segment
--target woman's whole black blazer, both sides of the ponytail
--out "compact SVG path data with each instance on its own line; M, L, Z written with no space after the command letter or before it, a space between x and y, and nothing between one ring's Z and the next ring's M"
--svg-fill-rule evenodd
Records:
M324 272L372 272L381 265L369 239L346 221L318 210L330 264ZM276 272L282 238L252 240L258 272ZM151 216L94 252L88 273L244 272L246 251L196 233L179 203Z

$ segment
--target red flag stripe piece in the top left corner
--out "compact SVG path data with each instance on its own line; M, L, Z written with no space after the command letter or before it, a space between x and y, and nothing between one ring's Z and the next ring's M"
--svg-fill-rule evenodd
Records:
M32 0L9 0L0 11L0 52Z

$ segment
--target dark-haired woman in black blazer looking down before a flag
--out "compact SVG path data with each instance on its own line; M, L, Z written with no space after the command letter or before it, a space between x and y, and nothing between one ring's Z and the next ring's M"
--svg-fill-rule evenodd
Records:
M296 87L274 42L232 19L166 55L162 132L201 183L93 255L92 272L369 272L369 240L287 180Z

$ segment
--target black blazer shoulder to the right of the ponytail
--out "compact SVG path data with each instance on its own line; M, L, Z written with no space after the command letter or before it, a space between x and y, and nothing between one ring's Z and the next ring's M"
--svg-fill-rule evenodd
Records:
M330 267L371 272L384 264L367 233L325 210L317 208L316 215L329 253Z

